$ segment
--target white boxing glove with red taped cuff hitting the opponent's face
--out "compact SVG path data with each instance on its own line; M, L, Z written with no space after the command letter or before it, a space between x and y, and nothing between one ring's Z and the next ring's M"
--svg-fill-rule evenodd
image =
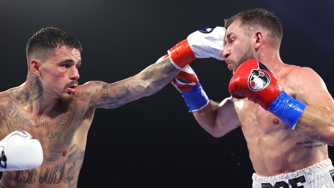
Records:
M187 39L168 50L172 64L181 69L196 58L224 60L225 33L224 27L207 27L191 33Z

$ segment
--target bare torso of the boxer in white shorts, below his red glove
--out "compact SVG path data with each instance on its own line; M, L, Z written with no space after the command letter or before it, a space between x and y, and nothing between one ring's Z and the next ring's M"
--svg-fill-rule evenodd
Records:
M279 72L274 72L284 90L292 97L295 97L296 91L293 89L293 81L287 79L287 75L295 68L299 67L285 65ZM326 144L301 136L248 99L233 100L249 156L258 175L293 172L328 158Z

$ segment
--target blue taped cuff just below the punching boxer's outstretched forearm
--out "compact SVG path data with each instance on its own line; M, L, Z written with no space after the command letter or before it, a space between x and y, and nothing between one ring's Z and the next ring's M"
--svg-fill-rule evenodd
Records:
M197 111L209 103L207 93L199 82L189 91L181 93L189 111Z

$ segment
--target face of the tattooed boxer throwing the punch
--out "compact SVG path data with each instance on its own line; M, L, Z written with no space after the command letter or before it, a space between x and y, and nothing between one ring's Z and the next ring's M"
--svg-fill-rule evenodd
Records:
M61 46L53 49L40 66L40 80L49 97L70 101L78 86L81 54Z

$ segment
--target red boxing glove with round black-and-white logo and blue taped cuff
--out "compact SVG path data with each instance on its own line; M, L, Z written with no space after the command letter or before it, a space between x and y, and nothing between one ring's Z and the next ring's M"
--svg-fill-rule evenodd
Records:
M255 59L247 60L236 69L229 92L236 99L248 98L261 105L292 129L306 108L289 96L274 74Z

